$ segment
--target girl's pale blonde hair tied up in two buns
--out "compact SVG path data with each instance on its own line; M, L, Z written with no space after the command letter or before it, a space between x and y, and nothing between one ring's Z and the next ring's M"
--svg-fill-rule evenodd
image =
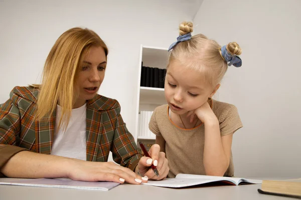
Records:
M179 25L180 35L193 31L192 22L182 22ZM240 55L241 48L236 42L227 45L229 53ZM197 34L190 40L179 42L172 50L168 65L173 60L178 60L185 66L202 72L203 78L212 87L220 83L227 71L228 65L221 55L221 46L212 39L208 39L203 34Z

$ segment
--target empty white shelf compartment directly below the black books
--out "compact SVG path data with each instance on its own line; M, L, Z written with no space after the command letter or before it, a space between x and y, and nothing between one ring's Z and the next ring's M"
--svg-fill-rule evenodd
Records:
M166 104L164 88L140 87L140 104Z

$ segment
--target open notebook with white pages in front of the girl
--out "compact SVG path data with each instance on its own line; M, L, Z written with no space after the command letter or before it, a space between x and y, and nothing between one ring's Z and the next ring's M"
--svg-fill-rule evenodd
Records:
M188 187L193 185L205 184L209 182L223 182L223 183L228 183L230 185L240 185L240 184L259 184L262 182L262 180L179 173L175 178L165 178L164 180L157 180L157 181L148 180L147 182L142 184L160 186L160 187Z

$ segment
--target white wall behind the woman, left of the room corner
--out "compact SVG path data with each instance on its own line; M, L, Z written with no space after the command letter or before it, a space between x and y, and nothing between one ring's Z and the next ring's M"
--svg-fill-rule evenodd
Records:
M74 26L96 31L109 47L99 93L116 98L134 134L140 44L168 47L200 0L1 0L0 103L16 85L39 83L56 39ZM191 11L192 9L193 11Z

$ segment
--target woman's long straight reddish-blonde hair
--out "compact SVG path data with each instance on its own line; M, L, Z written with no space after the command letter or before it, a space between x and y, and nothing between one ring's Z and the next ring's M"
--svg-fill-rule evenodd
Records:
M102 47L106 58L108 48L104 41L92 30L80 27L65 31L55 42L46 59L42 83L39 87L36 120L50 117L59 103L62 115L58 128L67 128L72 106L78 97L75 83L83 60L92 46Z

